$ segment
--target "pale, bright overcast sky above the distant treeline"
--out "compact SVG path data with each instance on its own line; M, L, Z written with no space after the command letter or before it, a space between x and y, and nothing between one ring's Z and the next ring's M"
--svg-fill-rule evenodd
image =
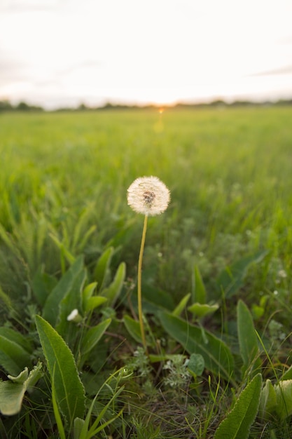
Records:
M0 0L0 100L292 98L291 0Z

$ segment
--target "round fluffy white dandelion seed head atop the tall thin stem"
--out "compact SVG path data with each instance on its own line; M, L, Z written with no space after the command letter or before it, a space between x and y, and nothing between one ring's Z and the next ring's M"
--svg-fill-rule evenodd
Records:
M158 177L139 177L127 189L127 203L134 212L160 215L170 201L169 189Z

